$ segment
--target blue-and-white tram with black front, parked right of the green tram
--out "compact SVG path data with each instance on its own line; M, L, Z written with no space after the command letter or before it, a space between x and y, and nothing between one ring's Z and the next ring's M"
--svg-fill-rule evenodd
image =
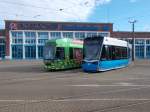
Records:
M115 38L85 38L82 69L86 72L97 72L126 67L132 60L131 49L128 42Z

